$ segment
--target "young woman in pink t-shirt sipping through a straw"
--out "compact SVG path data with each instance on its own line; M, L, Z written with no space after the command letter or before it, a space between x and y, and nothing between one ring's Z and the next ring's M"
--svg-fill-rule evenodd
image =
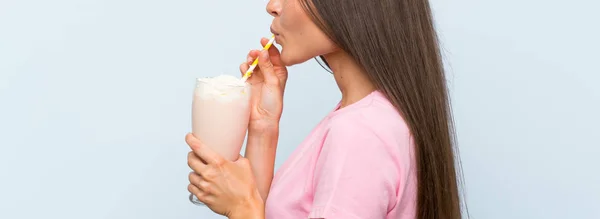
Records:
M187 135L188 189L237 218L459 219L451 112L428 0L271 0L245 157ZM261 43L266 44L267 39ZM342 99L273 176L286 66L321 57Z

